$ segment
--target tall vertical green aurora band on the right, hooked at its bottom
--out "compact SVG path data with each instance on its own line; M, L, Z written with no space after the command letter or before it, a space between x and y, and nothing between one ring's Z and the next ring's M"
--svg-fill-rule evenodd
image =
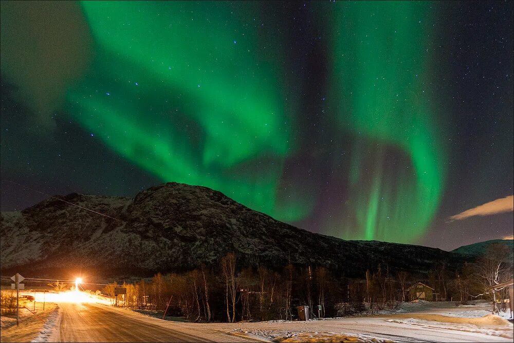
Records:
M431 99L432 5L337 7L332 98L342 127L359 136L348 174L356 199L343 209L355 219L340 223L344 238L415 242L438 209L447 156ZM391 146L411 162L391 168L391 151L383 148ZM370 149L372 163L366 166L363 152ZM348 229L353 223L355 230Z

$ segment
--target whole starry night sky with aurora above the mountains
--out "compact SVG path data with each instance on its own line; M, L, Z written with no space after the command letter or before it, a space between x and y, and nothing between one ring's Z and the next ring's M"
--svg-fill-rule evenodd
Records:
M513 2L2 2L1 208L47 197L12 182L134 196L174 181L342 239L453 249L510 236L513 14Z

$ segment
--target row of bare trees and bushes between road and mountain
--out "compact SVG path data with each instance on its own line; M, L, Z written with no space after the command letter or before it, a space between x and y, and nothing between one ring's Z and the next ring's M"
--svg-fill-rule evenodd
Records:
M324 266L239 267L235 254L229 253L216 266L201 265L185 273L159 273L150 280L123 283L126 295L118 296L118 305L166 311L168 316L196 322L291 320L298 317L300 305L309 306L311 317L373 314L397 309L409 300L407 289L421 281L434 288L434 300L489 299L498 312L498 299L507 298L507 290L495 291L492 286L512 278L511 256L508 247L499 244L458 270L450 270L446 261L426 273L392 272L384 264L364 271L362 278L345 278ZM120 285L103 289L113 304L116 286Z

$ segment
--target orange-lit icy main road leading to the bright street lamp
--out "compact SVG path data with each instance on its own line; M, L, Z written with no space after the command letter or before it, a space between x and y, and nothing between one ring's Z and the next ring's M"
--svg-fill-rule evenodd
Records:
M61 342L252 342L212 327L159 322L104 305L61 303ZM193 330L192 330L193 329Z

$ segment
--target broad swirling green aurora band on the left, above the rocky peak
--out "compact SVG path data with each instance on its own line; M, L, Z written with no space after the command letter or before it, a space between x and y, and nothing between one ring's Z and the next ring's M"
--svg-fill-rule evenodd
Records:
M281 95L280 42L266 55L253 27L237 30L253 20L248 8L213 2L82 7L99 45L94 74L68 93L71 113L84 127L164 181L221 190L285 221L308 213L306 206L277 204L293 107ZM273 40L260 39L268 47ZM258 173L248 172L255 164Z

